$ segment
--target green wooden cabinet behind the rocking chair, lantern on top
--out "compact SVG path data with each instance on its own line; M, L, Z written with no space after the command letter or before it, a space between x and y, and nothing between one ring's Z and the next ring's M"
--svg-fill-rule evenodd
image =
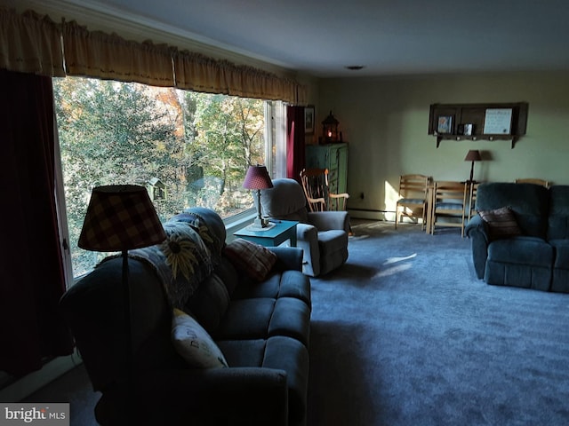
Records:
M331 193L348 192L348 144L307 145L307 169L328 169Z

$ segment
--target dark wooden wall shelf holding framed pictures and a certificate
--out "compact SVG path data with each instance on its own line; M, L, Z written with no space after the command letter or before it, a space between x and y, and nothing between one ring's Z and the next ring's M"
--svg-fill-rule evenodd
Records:
M525 135L527 102L494 104L432 104L429 135L443 139L511 140Z

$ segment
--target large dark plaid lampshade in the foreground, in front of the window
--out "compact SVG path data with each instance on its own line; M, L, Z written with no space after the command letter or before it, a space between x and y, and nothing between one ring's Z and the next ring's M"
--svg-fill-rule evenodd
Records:
M108 185L93 188L77 245L92 251L123 251L165 238L146 188Z

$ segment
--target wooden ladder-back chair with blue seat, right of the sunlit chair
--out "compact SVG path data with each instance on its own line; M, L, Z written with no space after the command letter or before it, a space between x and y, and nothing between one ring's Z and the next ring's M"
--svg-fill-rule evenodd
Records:
M467 191L468 182L435 182L431 206L431 234L435 233L437 225L460 227L461 235L464 233L464 197ZM443 218L445 221L440 220Z

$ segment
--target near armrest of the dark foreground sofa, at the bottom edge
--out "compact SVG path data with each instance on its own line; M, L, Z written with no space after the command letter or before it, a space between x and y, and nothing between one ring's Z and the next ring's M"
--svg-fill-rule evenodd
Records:
M288 424L283 370L230 367L147 371L139 373L132 393L134 408L129 409L129 392L124 388L104 392L95 408L97 421L102 425ZM137 414L140 419L133 418Z

